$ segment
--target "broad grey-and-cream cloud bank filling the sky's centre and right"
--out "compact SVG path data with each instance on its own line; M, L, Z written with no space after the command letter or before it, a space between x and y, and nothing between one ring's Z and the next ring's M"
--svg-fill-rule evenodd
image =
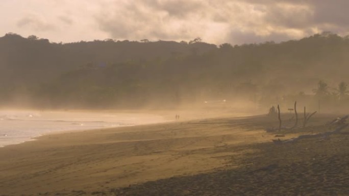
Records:
M258 43L321 31L345 34L348 6L344 0L129 0L110 3L95 18L115 39Z

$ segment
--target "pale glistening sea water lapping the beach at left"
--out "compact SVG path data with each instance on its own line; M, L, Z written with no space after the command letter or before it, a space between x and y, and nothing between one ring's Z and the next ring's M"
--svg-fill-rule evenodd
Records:
M87 130L165 122L149 114L0 110L0 147L57 131Z

